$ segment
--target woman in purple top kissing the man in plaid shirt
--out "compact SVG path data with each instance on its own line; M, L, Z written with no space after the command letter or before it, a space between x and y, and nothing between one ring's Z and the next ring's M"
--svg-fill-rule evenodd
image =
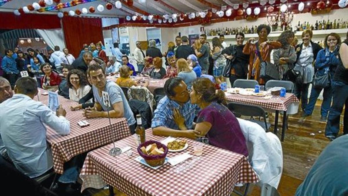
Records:
M206 135L209 144L248 156L246 141L236 116L228 110L225 94L215 90L215 84L207 78L193 81L191 103L201 110L195 130Z

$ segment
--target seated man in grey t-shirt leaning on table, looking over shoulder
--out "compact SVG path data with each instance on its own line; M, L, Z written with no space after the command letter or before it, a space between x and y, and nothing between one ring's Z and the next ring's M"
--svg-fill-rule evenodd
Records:
M112 81L106 81L104 69L97 64L90 64L88 67L88 74L93 83L93 95L95 104L93 108L86 108L85 116L87 118L110 118L124 117L127 119L130 131L134 133L136 123L133 112L128 105L126 96L124 95L120 86ZM109 93L109 100L111 107L107 107L103 103L102 91Z

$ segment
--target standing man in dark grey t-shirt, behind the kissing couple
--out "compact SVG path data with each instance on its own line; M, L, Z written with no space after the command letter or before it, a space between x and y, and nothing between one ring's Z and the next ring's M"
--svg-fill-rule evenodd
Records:
M202 67L204 74L208 73L209 52L210 52L210 48L208 44L205 43L206 39L207 39L207 36L205 34L200 35L199 41L202 44L202 47L199 49L199 51L197 50L197 48L195 48L195 53L196 53L196 56L198 57L199 65Z

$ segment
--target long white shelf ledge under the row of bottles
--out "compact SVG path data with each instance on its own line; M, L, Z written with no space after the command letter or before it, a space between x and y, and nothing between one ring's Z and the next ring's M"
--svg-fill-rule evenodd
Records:
M338 33L338 34L346 34L348 31L348 28L346 29L326 29L326 30L313 30L313 35L327 35L329 33ZM269 33L268 37L279 37L280 34L283 31L272 31ZM295 36L302 36L303 31L296 31ZM217 36L207 36L207 40L212 40L213 37L219 37ZM251 33L251 34L245 34L245 39L247 38L257 38L258 34L257 33ZM343 36L344 38L346 36ZM225 35L225 39L236 39L236 35Z

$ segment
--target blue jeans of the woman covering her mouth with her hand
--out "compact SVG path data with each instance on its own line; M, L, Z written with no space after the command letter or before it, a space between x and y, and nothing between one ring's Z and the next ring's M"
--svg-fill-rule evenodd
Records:
M308 104L306 106L306 108L304 109L304 113L307 115L311 115L313 113L314 110L314 106L315 103L317 102L317 99L319 97L320 92L322 91L322 88L314 88L314 86L312 86L312 91L310 93L310 97L309 97L309 101ZM325 118L327 117L327 113L329 113L330 107L331 107L331 100L332 100L332 88L331 85L324 88L324 93L323 93L323 103L322 103L322 107L320 110L320 113L322 116L324 116Z

